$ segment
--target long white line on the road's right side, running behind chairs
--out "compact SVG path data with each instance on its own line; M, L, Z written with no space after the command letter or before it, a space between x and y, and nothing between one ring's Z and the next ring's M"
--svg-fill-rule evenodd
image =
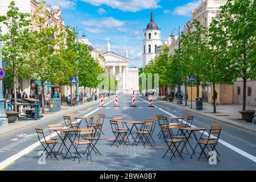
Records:
M138 98L141 99L141 100L144 101L144 102L147 102L147 101L143 100L143 99L140 98L140 97L138 97ZM147 102L147 103L148 103L148 102ZM149 103L148 103L148 104L149 104ZM165 110L163 110L163 109L160 109L160 108L157 107L157 106L155 106L155 107L156 107L157 109L159 109L160 111L163 111L164 113L166 113L166 114L168 114L168 115L171 115L172 117L176 117L176 115L173 115L173 114L171 114L171 113L168 113L167 111L165 111ZM181 121L181 119L179 119L179 121ZM183 122L184 122L184 121L183 121ZM192 126L192 127L196 127L196 126L194 126L194 125L191 125L191 126ZM200 132L202 133L203 131L200 131ZM209 135L207 132L204 132L204 134L205 134L205 135ZM216 137L214 137L213 135L211 135L210 137L216 138ZM218 139L218 142L221 143L221 144L223 144L224 146L230 148L231 150L237 152L238 154L240 154L240 155L242 155L242 156L245 156L247 159L250 159L250 160L252 160L253 162L256 163L256 157L255 157L255 156L253 156L253 155L251 155L251 154L249 154L249 153L247 153L247 152L241 150L240 148L237 148L237 147L233 146L233 145L230 144L230 143L225 142L224 140Z

